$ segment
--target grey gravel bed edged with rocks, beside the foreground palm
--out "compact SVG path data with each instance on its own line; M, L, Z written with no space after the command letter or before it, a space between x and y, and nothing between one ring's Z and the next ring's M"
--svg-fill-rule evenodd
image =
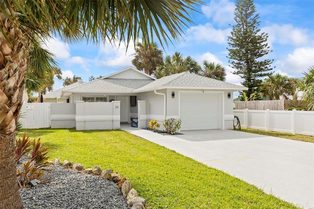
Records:
M54 180L20 189L25 209L131 209L115 183L62 166L46 167L42 179Z

